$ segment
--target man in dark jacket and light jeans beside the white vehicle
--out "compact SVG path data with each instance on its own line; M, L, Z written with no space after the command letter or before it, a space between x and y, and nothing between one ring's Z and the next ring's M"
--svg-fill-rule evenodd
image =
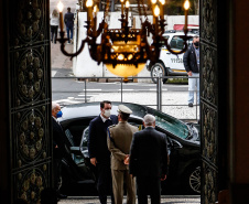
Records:
M197 35L193 37L193 44L184 53L183 63L188 75L188 107L193 107L195 87L197 87L196 100L199 105L199 37Z

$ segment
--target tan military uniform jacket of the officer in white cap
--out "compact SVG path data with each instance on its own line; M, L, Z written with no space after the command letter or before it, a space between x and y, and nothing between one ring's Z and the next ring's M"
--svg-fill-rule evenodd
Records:
M126 154L130 153L130 144L133 133L139 128L128 122L120 121L117 126L110 126L107 133L107 144L111 152L111 169L127 170L128 165L123 163Z

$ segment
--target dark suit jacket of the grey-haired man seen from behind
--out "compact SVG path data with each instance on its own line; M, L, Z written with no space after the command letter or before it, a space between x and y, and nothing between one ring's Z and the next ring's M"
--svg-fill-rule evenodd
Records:
M148 127L136 132L130 150L130 174L161 178L167 173L166 136Z

